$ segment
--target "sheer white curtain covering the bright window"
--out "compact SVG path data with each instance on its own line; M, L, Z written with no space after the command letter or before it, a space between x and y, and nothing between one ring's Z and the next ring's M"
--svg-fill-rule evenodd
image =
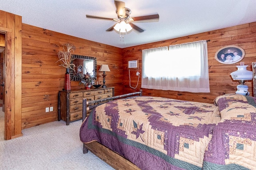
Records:
M207 42L142 50L142 88L209 93Z

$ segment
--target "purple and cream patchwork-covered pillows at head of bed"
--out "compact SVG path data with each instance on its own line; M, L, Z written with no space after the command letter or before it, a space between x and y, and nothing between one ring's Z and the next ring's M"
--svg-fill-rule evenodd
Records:
M256 97L228 94L215 99L221 115L203 169L256 169Z

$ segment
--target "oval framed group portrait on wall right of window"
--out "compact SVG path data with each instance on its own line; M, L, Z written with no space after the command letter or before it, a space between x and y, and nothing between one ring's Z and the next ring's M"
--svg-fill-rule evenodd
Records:
M233 64L244 58L244 49L236 45L229 45L220 48L215 53L215 59L222 64Z

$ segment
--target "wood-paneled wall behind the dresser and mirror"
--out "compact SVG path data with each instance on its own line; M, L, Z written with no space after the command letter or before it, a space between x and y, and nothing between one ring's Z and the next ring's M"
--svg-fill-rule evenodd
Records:
M72 43L74 54L97 58L100 65L108 64L107 87L115 87L115 95L122 94L122 49L92 42L35 26L22 24L22 128L57 120L58 91L64 88L66 69L58 66L57 53L62 44ZM103 84L103 72L98 83ZM78 81L71 82L71 90L84 89ZM46 107L54 111L45 112Z

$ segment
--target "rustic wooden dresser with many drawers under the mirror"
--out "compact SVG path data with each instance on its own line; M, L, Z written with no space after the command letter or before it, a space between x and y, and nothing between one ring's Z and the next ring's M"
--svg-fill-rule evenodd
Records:
M114 87L84 89L74 91L59 91L58 94L58 121L60 119L66 121L66 125L70 122L82 119L82 100L93 101L114 96ZM88 116L90 111L88 111Z

